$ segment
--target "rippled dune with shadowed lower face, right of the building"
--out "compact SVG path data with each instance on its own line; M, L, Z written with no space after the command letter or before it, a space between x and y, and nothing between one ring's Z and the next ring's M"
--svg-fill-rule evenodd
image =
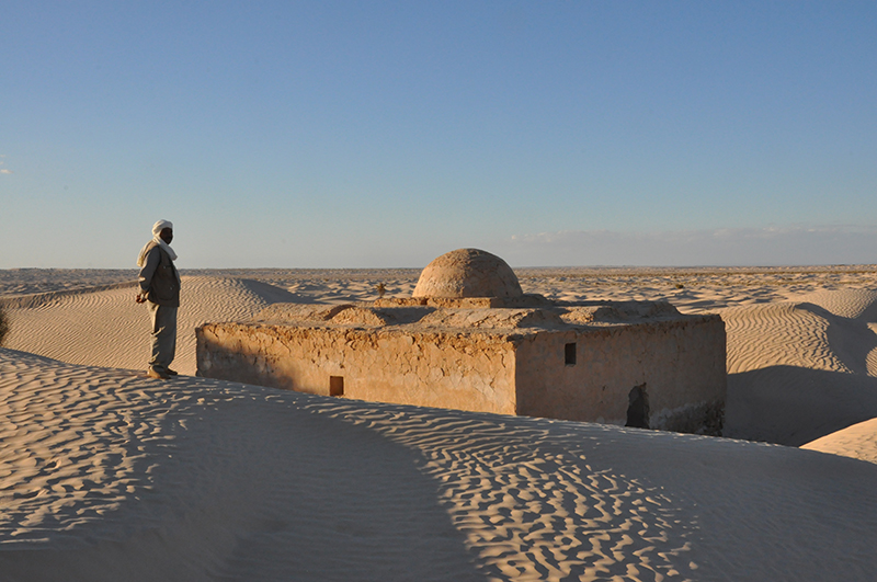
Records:
M877 416L877 292L819 292L721 317L725 435L798 446Z

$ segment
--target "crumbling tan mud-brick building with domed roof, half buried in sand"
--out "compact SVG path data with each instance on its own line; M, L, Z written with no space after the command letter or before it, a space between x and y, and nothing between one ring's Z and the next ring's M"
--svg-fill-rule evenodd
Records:
M275 304L196 330L202 376L317 395L720 431L725 324L663 301L549 301L475 249L423 270L410 298Z

